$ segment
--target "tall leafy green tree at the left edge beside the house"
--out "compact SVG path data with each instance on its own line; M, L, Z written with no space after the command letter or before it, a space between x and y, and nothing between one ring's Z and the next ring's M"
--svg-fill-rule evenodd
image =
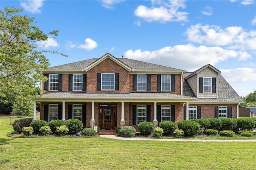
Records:
M39 97L36 83L47 79L40 69L50 65L44 53L64 55L58 51L38 50L38 46L44 46L42 42L56 38L58 31L44 33L32 25L34 18L18 15L22 11L15 7L4 7L4 11L0 11L0 103L19 103L14 109L16 112L19 112L19 105L26 107ZM24 106L20 109L24 110Z

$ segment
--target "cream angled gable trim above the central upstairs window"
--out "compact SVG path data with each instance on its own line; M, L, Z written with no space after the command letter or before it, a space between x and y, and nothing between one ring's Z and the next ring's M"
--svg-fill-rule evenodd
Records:
M104 61L107 58L111 59L112 61L114 61L115 63L117 63L121 67L123 67L124 69L126 69L128 71L132 71L131 67L129 67L128 65L126 65L125 63L123 63L122 61L120 61L119 59L117 59L116 57L111 55L110 53L106 53L105 55L103 55L102 57L100 57L99 59L94 61L92 64L85 67L83 70L88 71L88 70L92 69L94 66L98 65L98 63L101 63L102 61Z

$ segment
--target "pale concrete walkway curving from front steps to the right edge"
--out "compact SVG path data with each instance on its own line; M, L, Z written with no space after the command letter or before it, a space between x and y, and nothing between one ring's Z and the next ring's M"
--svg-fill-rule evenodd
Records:
M100 135L102 138L118 140L158 140L158 141L183 141L183 142L256 142L256 139L154 139L154 138L123 138L115 135Z

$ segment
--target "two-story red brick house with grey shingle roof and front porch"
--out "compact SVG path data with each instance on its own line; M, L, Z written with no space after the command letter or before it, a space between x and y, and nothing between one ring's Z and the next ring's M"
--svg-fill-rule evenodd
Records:
M116 58L106 53L42 70L48 81L40 119L79 119L84 127L134 126L142 121L178 122L199 118L237 118L243 102L220 71L206 65L193 73Z

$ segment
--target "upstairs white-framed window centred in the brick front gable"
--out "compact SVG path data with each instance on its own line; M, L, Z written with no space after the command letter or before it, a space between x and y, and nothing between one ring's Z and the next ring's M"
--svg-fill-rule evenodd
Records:
M114 90L114 73L102 73L101 74L101 90Z

